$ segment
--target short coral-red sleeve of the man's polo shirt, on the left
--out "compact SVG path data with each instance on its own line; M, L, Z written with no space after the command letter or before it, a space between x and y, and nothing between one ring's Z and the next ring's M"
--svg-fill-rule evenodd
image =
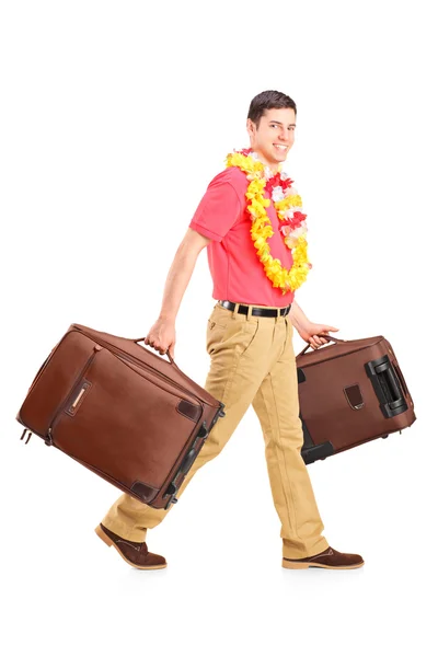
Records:
M221 242L242 214L242 204L233 185L218 174L207 187L188 224L210 240Z

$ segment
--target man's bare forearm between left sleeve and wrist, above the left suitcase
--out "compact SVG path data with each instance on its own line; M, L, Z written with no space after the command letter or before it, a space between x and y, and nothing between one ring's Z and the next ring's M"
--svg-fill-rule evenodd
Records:
M181 244L165 279L160 319L176 320L181 301L192 278L198 254Z

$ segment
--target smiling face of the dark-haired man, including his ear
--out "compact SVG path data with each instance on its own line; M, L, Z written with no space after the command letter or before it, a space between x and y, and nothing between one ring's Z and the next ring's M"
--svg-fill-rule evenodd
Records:
M290 107L281 110L265 110L258 128L249 118L246 122L251 148L261 160L276 169L287 158L295 140L296 116Z

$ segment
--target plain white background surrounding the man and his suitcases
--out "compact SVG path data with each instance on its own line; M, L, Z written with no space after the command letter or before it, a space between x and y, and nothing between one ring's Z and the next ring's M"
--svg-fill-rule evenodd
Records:
M21 2L0 13L1 641L8 656L436 655L437 101L433 2ZM297 103L313 264L297 300L344 339L383 335L417 420L309 466L357 570L280 567L252 408L139 572L94 527L118 489L15 414L72 322L146 335L209 181L249 146L251 99ZM435 232L434 232L435 231ZM175 360L201 385L204 251ZM296 351L304 343L296 333ZM435 607L435 611L434 611Z

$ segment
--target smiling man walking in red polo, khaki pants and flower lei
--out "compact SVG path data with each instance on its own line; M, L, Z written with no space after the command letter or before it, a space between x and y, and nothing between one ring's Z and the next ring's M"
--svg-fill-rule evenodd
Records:
M252 404L281 521L283 566L356 568L364 564L360 555L337 552L322 535L324 526L301 457L292 327L312 348L327 342L321 333L337 328L310 322L295 301L295 290L311 267L301 199L293 181L279 171L293 145L296 117L295 102L283 93L265 91L253 99L246 122L251 148L230 153L227 169L209 184L176 252L160 315L145 342L174 356L176 314L207 246L217 303L207 325L211 365L205 389L224 403L226 416L207 437L178 495L196 471L219 454ZM124 494L95 531L132 566L163 568L165 558L149 552L145 538L169 510Z

